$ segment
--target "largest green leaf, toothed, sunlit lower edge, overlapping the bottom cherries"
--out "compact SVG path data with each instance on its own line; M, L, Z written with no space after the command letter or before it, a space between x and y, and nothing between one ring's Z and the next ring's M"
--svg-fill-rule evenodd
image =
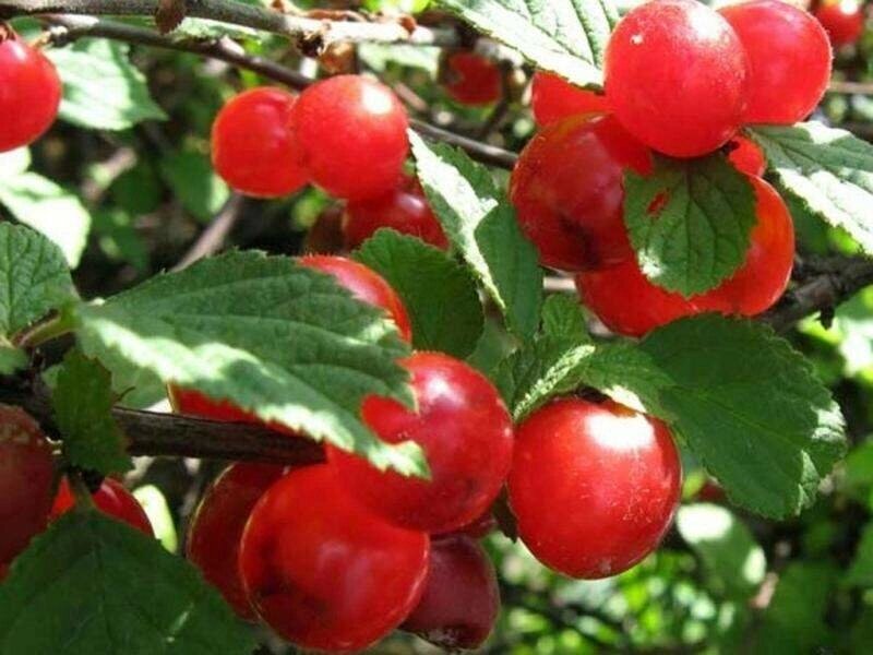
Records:
M414 404L396 326L294 260L228 252L83 306L79 320L83 349L113 372L139 367L379 467L427 471L418 449L386 445L358 416L371 394Z

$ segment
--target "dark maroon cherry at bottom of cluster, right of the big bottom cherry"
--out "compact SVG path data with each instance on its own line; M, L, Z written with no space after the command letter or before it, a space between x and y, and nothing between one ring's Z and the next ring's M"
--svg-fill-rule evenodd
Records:
M491 560L470 537L433 539L424 593L400 628L454 652L478 648L500 614Z

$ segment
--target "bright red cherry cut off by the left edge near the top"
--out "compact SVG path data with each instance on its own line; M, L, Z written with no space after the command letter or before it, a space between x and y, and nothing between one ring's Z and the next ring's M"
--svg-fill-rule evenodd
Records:
M55 64L0 26L0 153L39 139L55 122L60 102Z

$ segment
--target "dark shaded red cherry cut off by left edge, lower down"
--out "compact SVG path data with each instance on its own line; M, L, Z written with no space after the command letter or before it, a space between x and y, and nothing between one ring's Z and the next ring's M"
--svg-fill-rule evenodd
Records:
M37 422L20 407L0 405L0 562L46 527L53 475L51 446Z

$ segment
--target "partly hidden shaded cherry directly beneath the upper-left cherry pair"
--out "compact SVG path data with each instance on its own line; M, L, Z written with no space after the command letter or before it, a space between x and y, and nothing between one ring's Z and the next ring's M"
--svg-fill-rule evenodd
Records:
M449 248L449 240L421 186L408 176L387 193L370 200L354 200L346 206L343 233L349 249L358 248L382 227L418 237L438 248Z

